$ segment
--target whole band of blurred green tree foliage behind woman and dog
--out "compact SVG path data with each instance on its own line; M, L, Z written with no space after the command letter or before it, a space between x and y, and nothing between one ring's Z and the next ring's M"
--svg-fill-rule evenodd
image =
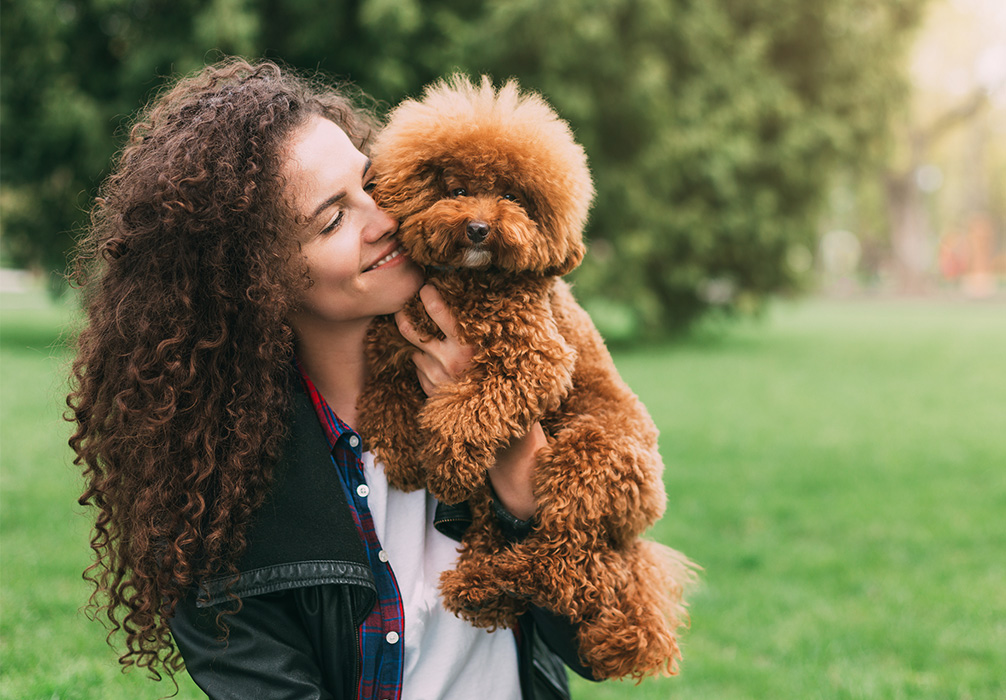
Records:
M390 104L487 71L543 93L588 149L585 305L612 335L661 335L799 289L833 173L879 152L925 2L15 0L5 245L62 269L115 128L159 76L218 52L321 68Z

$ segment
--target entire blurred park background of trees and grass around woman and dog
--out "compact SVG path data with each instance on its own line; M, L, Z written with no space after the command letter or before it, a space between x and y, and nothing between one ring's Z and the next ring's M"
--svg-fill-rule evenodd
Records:
M704 570L681 676L577 699L1006 698L1003 0L3 0L0 34L0 699L174 691L82 611L64 273L136 112L232 53L383 109L516 76L585 146L575 292L661 430L651 536Z

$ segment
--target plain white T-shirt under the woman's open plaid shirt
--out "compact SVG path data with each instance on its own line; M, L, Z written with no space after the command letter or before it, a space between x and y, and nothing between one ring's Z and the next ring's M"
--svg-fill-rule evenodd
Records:
M383 465L369 452L363 474L377 539L404 607L402 700L520 700L513 633L472 627L441 602L440 574L454 567L458 543L434 527L437 500L426 490L389 488Z

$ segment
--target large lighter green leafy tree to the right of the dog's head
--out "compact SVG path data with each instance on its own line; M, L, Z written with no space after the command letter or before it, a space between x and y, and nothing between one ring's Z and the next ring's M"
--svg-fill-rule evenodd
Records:
M923 4L495 3L480 65L548 96L592 157L589 308L662 333L798 289L832 175L882 155Z

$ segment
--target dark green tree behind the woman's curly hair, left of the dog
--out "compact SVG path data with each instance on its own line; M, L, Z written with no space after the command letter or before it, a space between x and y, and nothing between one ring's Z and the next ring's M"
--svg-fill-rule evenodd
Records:
M450 34L472 13L471 3L417 0L5 3L5 255L62 273L122 127L165 78L237 53L323 68L397 100L453 64Z

